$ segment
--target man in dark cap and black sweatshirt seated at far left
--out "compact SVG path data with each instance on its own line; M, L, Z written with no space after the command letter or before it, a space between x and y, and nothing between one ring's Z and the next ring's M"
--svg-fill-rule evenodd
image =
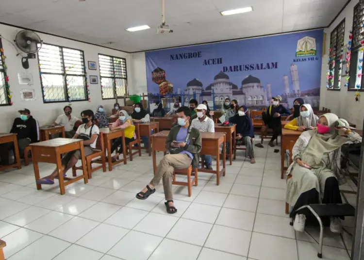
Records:
M30 114L29 109L18 111L20 117L15 118L11 133L17 134L17 145L19 147L20 158L24 158L24 149L31 143L39 140L38 122ZM14 149L13 143L5 143L0 145L0 158L2 165L9 164L9 150Z

